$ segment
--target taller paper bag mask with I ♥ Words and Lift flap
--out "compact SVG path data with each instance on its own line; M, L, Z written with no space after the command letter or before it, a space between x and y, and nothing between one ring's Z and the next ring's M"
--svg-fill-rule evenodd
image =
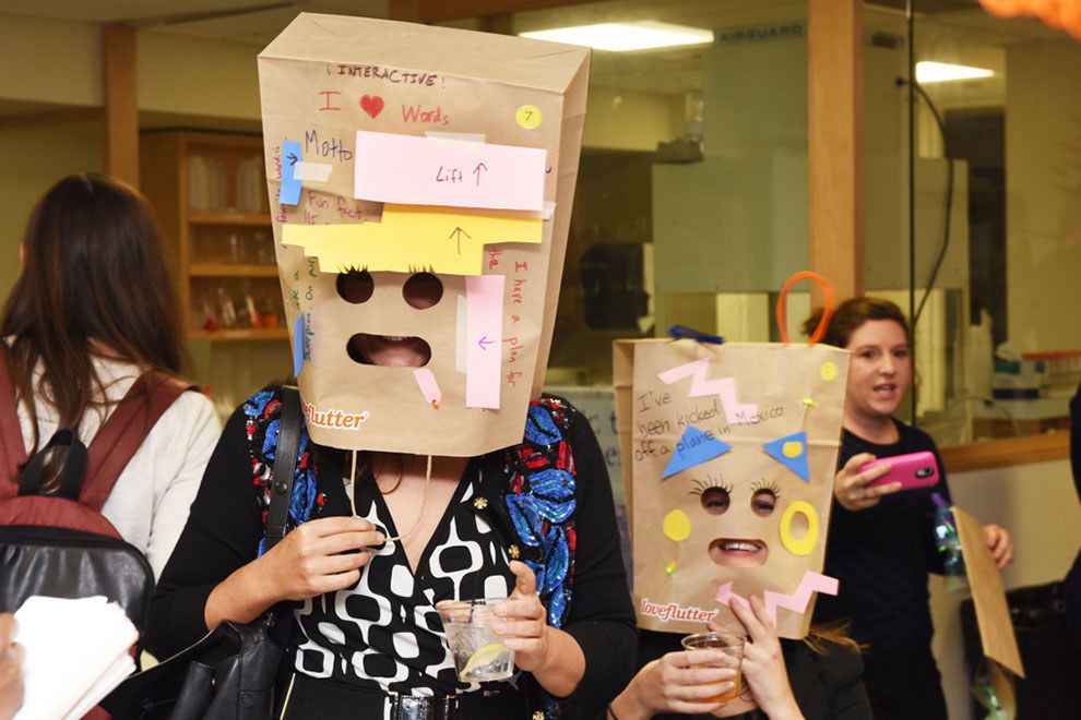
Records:
M521 441L551 341L589 67L577 46L309 13L260 53L312 440L454 456ZM431 275L438 302L411 307L407 284ZM365 335L426 344L430 360L366 364Z

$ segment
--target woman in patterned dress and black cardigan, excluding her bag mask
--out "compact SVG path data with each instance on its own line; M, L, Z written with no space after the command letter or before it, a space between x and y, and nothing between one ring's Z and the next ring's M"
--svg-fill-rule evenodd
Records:
M439 302L442 288L437 276L418 275L427 277L407 281L403 297L424 310ZM377 367L414 368L427 362L430 349L417 338L366 335L351 353ZM275 388L257 394L226 425L152 609L154 651L171 653L222 620L248 622L275 603L297 601L285 717L377 711L388 692L459 695L459 717L518 716L526 707L525 673L550 696L574 695L585 704L603 705L618 692L633 668L633 615L604 460L573 408L544 399L531 410L531 422L539 419L563 435L558 446L526 449L523 443L477 458L365 453L353 469L351 453L307 444L298 473L311 480L311 519L252 560L263 537L252 464L258 482L270 463L260 452L270 432L264 421L276 422L276 398ZM523 540L513 525L498 527L500 514L491 512L521 470L508 465L511 452L531 453L531 463L548 471L557 465L560 472L572 470L562 478L574 482L570 507L590 518L568 528L575 592L569 598L548 586L547 608L534 571L512 560L520 552L524 559ZM354 504L361 517L351 516ZM538 567L549 576L557 569L550 562ZM508 597L491 625L514 650L521 672L510 682L480 685L455 676L432 605L474 597ZM558 603L568 604L562 628L547 622ZM543 700L534 696L530 707L543 710Z

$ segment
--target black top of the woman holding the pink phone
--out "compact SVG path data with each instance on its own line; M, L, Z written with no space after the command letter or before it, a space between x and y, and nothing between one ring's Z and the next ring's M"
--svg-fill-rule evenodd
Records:
M838 469L854 455L894 457L930 451L938 464L938 483L886 495L874 507L852 512L834 499L825 547L825 569L841 583L836 597L820 595L815 622L851 620L848 634L879 648L929 644L934 629L927 591L928 573L942 572L936 547L931 493L950 503L942 459L930 435L893 421L901 437L879 445L845 430Z

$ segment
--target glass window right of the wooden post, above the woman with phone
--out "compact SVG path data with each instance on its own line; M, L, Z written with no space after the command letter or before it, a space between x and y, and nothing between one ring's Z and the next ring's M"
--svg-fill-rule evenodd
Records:
M899 13L866 9L868 292L915 311L915 413L939 444L1066 429L1081 381L1081 324L1071 313L1081 267L1081 46L1034 19L914 5L911 37ZM887 104L894 115L889 96L900 96L901 118L888 124L906 134L908 93L871 71L884 62L880 34L911 41L916 61L911 277L907 208L891 224L900 241L881 226L881 208L907 195L907 167L875 169L889 144L875 118ZM889 272L899 265L900 277Z

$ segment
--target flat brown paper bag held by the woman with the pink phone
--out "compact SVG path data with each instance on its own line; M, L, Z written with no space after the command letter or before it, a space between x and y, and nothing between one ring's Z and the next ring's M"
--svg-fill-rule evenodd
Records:
M1006 602L1002 578L995 559L984 542L984 526L959 507L951 507L961 540L961 555L969 576L972 602L976 608L976 624L984 655L997 660L1014 674L1024 677L1021 651L1013 633L1010 608Z

